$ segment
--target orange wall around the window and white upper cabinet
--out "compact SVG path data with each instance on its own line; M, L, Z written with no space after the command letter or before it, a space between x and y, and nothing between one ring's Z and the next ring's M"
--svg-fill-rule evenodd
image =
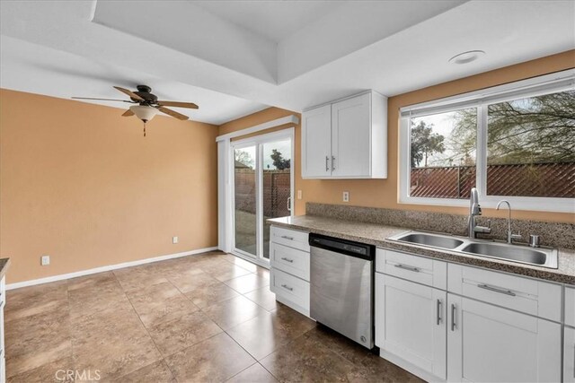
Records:
M411 91L388 100L388 178L362 180L312 180L301 178L301 128L296 126L296 178L295 189L302 190L303 199L296 200L296 214L305 213L305 202L343 204L341 192L349 191L349 205L385 207L391 209L419 210L429 212L467 214L464 207L398 204L398 129L399 109L403 106L453 96L467 91L476 91L502 83L510 83L542 74L549 74L575 67L575 50L550 57L543 57L526 63L511 65L491 72L477 74L449 83L441 83L418 91ZM220 126L220 135L234 130L261 124L293 112L283 109L266 109L245 118ZM504 217L505 212L485 209L483 214ZM532 219L546 222L575 222L575 213L545 213L514 211L518 219Z

